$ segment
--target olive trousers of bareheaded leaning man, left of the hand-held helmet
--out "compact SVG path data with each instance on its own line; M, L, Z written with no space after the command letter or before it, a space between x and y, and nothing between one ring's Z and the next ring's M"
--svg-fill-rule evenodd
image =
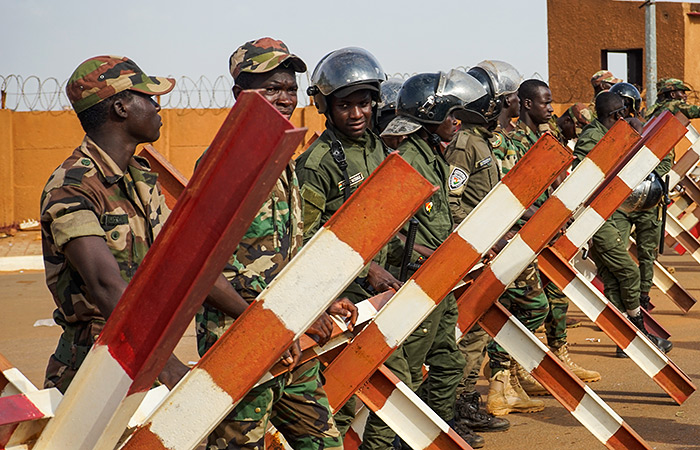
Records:
M614 222L608 219L593 235L590 256L610 302L622 312L639 307L639 268Z

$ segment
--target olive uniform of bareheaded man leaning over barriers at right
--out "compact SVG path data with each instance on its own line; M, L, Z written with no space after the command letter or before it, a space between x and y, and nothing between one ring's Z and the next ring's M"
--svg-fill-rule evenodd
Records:
M573 167L595 147L607 128L598 119L587 125L574 148ZM593 235L591 259L605 287L605 296L620 311L634 310L639 306L639 269L627 251L615 220L610 217Z

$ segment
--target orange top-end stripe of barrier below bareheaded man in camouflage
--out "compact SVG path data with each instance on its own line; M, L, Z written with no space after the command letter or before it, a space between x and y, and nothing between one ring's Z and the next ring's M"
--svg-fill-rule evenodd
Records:
M533 180L553 180L573 161L571 152L551 134L545 133L525 156L503 177L502 182L525 207L529 207L547 188ZM549 185L549 183L548 183Z

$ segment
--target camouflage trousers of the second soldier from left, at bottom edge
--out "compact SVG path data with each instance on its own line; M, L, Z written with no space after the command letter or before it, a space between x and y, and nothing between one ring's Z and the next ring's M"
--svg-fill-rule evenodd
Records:
M268 421L294 450L342 449L318 361L254 387L209 435L207 450L265 448Z

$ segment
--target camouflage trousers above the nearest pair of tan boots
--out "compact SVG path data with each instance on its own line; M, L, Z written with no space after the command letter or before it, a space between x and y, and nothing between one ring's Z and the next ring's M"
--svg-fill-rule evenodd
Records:
M525 328L534 333L544 323L549 312L537 262L527 266L498 300ZM491 373L510 367L510 355L495 340L488 345L487 351Z

